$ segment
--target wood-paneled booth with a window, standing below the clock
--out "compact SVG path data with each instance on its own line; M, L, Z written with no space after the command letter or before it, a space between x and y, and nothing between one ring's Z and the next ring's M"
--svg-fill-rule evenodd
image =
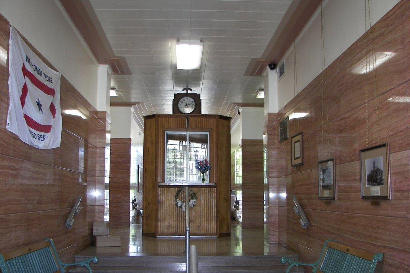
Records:
M144 121L143 233L179 236L185 233L185 212L175 206L181 184L165 183L165 132L209 133L209 182L192 185L198 196L191 210L191 234L230 233L230 120L219 115L151 115Z

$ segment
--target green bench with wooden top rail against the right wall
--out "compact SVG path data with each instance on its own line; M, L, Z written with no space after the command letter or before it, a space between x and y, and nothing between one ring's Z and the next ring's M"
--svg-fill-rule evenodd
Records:
M289 264L286 273L297 266L312 267L313 273L373 273L382 260L382 253L373 254L329 240L325 242L319 260L313 264L301 263L290 257L282 257L281 262Z

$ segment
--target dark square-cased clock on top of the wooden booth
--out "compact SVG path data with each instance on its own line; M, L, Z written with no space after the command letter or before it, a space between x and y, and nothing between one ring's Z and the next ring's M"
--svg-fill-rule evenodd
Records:
M174 94L172 102L173 114L201 114L201 98L196 93Z

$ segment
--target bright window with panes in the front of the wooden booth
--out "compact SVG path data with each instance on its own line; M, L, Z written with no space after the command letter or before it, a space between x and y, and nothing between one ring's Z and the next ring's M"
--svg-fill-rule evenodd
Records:
M199 183L196 160L209 160L208 132L165 132L165 183ZM205 174L209 181L209 172Z

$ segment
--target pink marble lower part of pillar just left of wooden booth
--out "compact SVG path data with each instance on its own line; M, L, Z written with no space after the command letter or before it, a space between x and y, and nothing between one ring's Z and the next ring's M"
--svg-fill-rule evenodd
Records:
M131 139L112 138L110 156L110 225L130 224Z

